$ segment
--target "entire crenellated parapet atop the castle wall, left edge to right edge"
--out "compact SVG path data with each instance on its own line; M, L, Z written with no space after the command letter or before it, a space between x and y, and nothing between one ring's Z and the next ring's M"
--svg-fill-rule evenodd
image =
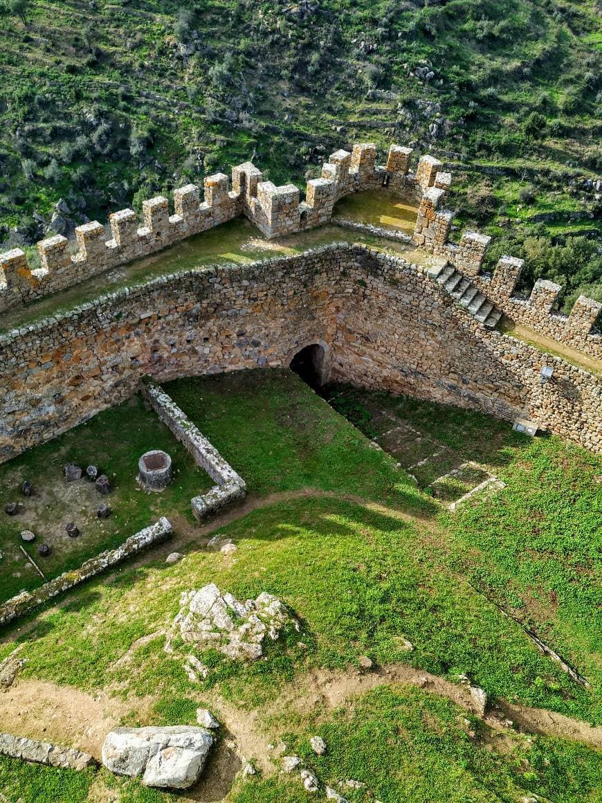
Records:
M205 178L204 200L193 184L173 193L174 214L167 198L144 201L142 219L132 210L109 216L107 230L90 222L76 230L78 251L71 255L67 239L57 235L38 243L42 267L32 270L20 249L0 255L0 313L15 305L55 293L90 276L108 271L213 226L245 215L267 238L292 234L330 221L335 203L362 190L387 190L419 206L413 240L429 254L449 260L479 291L519 324L565 343L592 357L602 358L602 336L592 332L600 304L581 296L570 316L554 311L559 287L535 284L531 297L515 295L520 260L503 257L492 277L481 272L490 237L465 231L458 243L449 241L453 213L441 208L452 177L435 157L426 155L410 170L413 151L391 145L386 165L376 165L376 145L354 145L352 151L332 153L321 177L307 181L299 202L292 184L263 181L251 162L232 170L232 189L225 173Z

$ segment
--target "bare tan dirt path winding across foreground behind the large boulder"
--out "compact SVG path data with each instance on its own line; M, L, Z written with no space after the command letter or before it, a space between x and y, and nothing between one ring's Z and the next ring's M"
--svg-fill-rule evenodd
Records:
M263 772L270 772L273 769L270 758L274 755L270 743L279 741L279 733L274 729L266 731L263 724L266 720L279 719L276 715L287 709L302 716L316 709L327 715L356 695L397 683L421 687L475 713L468 688L401 663L364 674L355 669L336 672L315 669L295 679L267 707L250 711L236 707L220 695L212 697L207 692L200 695L193 688L190 694L193 697L198 694L199 705L209 703L223 725L223 755L218 756L218 764L240 765L244 757L254 760ZM123 700L105 692L91 695L55 683L17 680L8 691L0 694L0 730L76 747L100 759L104 736L131 711L136 711L136 717L142 721L150 719L153 702L151 696ZM495 731L503 732L508 719L520 731L559 736L602 748L602 728L592 728L579 719L545 709L501 700L486 715L485 722Z

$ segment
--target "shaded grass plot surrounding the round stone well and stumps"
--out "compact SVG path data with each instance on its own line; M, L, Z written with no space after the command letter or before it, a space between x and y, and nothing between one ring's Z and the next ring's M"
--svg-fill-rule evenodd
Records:
M175 479L161 494L141 491L136 483L138 459L150 449L162 449L171 455ZM100 496L93 483L83 479L67 483L63 465L90 464L108 476L112 491ZM34 492L21 493L23 480L33 483ZM190 499L212 482L199 469L152 410L146 410L141 397L91 418L60 438L36 446L0 466L0 600L21 589L33 589L42 577L19 549L23 548L38 563L50 580L103 549L116 547L141 528L153 524L159 516L189 516ZM22 502L22 512L6 516L4 507ZM96 510L106 502L112 508L108 519L99 519ZM67 536L65 525L75 523L79 538ZM22 530L31 530L36 539L23 543ZM51 546L51 554L39 556L42 543Z

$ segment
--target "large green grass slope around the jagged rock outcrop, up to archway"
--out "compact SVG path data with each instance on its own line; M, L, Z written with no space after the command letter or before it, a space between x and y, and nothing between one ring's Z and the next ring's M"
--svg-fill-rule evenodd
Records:
M256 509L218 530L237 545L234 558L193 539L178 547L185 557L175 565L152 555L124 565L30 617L26 634L6 629L0 658L24 641L24 679L150 696L152 706L135 709L124 724L192 724L197 705L212 707L218 718L221 705L234 706L254 715L266 739L284 740L289 752L303 755L320 781L352 803L518 801L529 794L558 803L597 799L596 752L514 731L500 740L428 691L384 687L340 711L312 703L299 713L290 706L308 672L344 672L367 654L380 665L404 662L452 681L466 673L492 699L600 721L592 635L600 601L592 479L600 459L556 438L517 436L485 416L380 394L380 408L388 402L458 454L466 447L506 482L486 504L475 501L451 516L294 374L237 372L178 380L166 389L249 485ZM298 495L309 488L313 495ZM282 493L287 498L265 504L266 496ZM209 582L239 598L275 593L293 609L302 633L270 644L265 659L251 665L197 652L211 668L200 683L190 683L182 669L190 647L176 640L174 653L165 654L161 633L139 646L131 662L118 662L137 638L169 628L182 591ZM524 608L524 622L575 664L591 689L540 654L502 608L517 618ZM322 758L307 747L316 732L330 747ZM13 803L50 771L2 761L0 772ZM336 784L349 777L366 787L339 790ZM111 786L122 803L172 799L104 772L96 786L107 799ZM1 782L0 790L6 795ZM227 799L314 797L298 780L267 773L237 781ZM52 798L40 793L39 799ZM86 798L74 787L64 799Z

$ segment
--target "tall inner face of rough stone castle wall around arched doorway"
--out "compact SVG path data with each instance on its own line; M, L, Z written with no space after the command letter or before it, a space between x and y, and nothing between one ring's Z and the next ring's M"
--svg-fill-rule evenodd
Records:
M335 378L531 418L602 451L602 381L489 332L403 259L338 243L125 288L0 336L0 460L159 381L288 365L330 349ZM555 373L539 382L543 365Z

